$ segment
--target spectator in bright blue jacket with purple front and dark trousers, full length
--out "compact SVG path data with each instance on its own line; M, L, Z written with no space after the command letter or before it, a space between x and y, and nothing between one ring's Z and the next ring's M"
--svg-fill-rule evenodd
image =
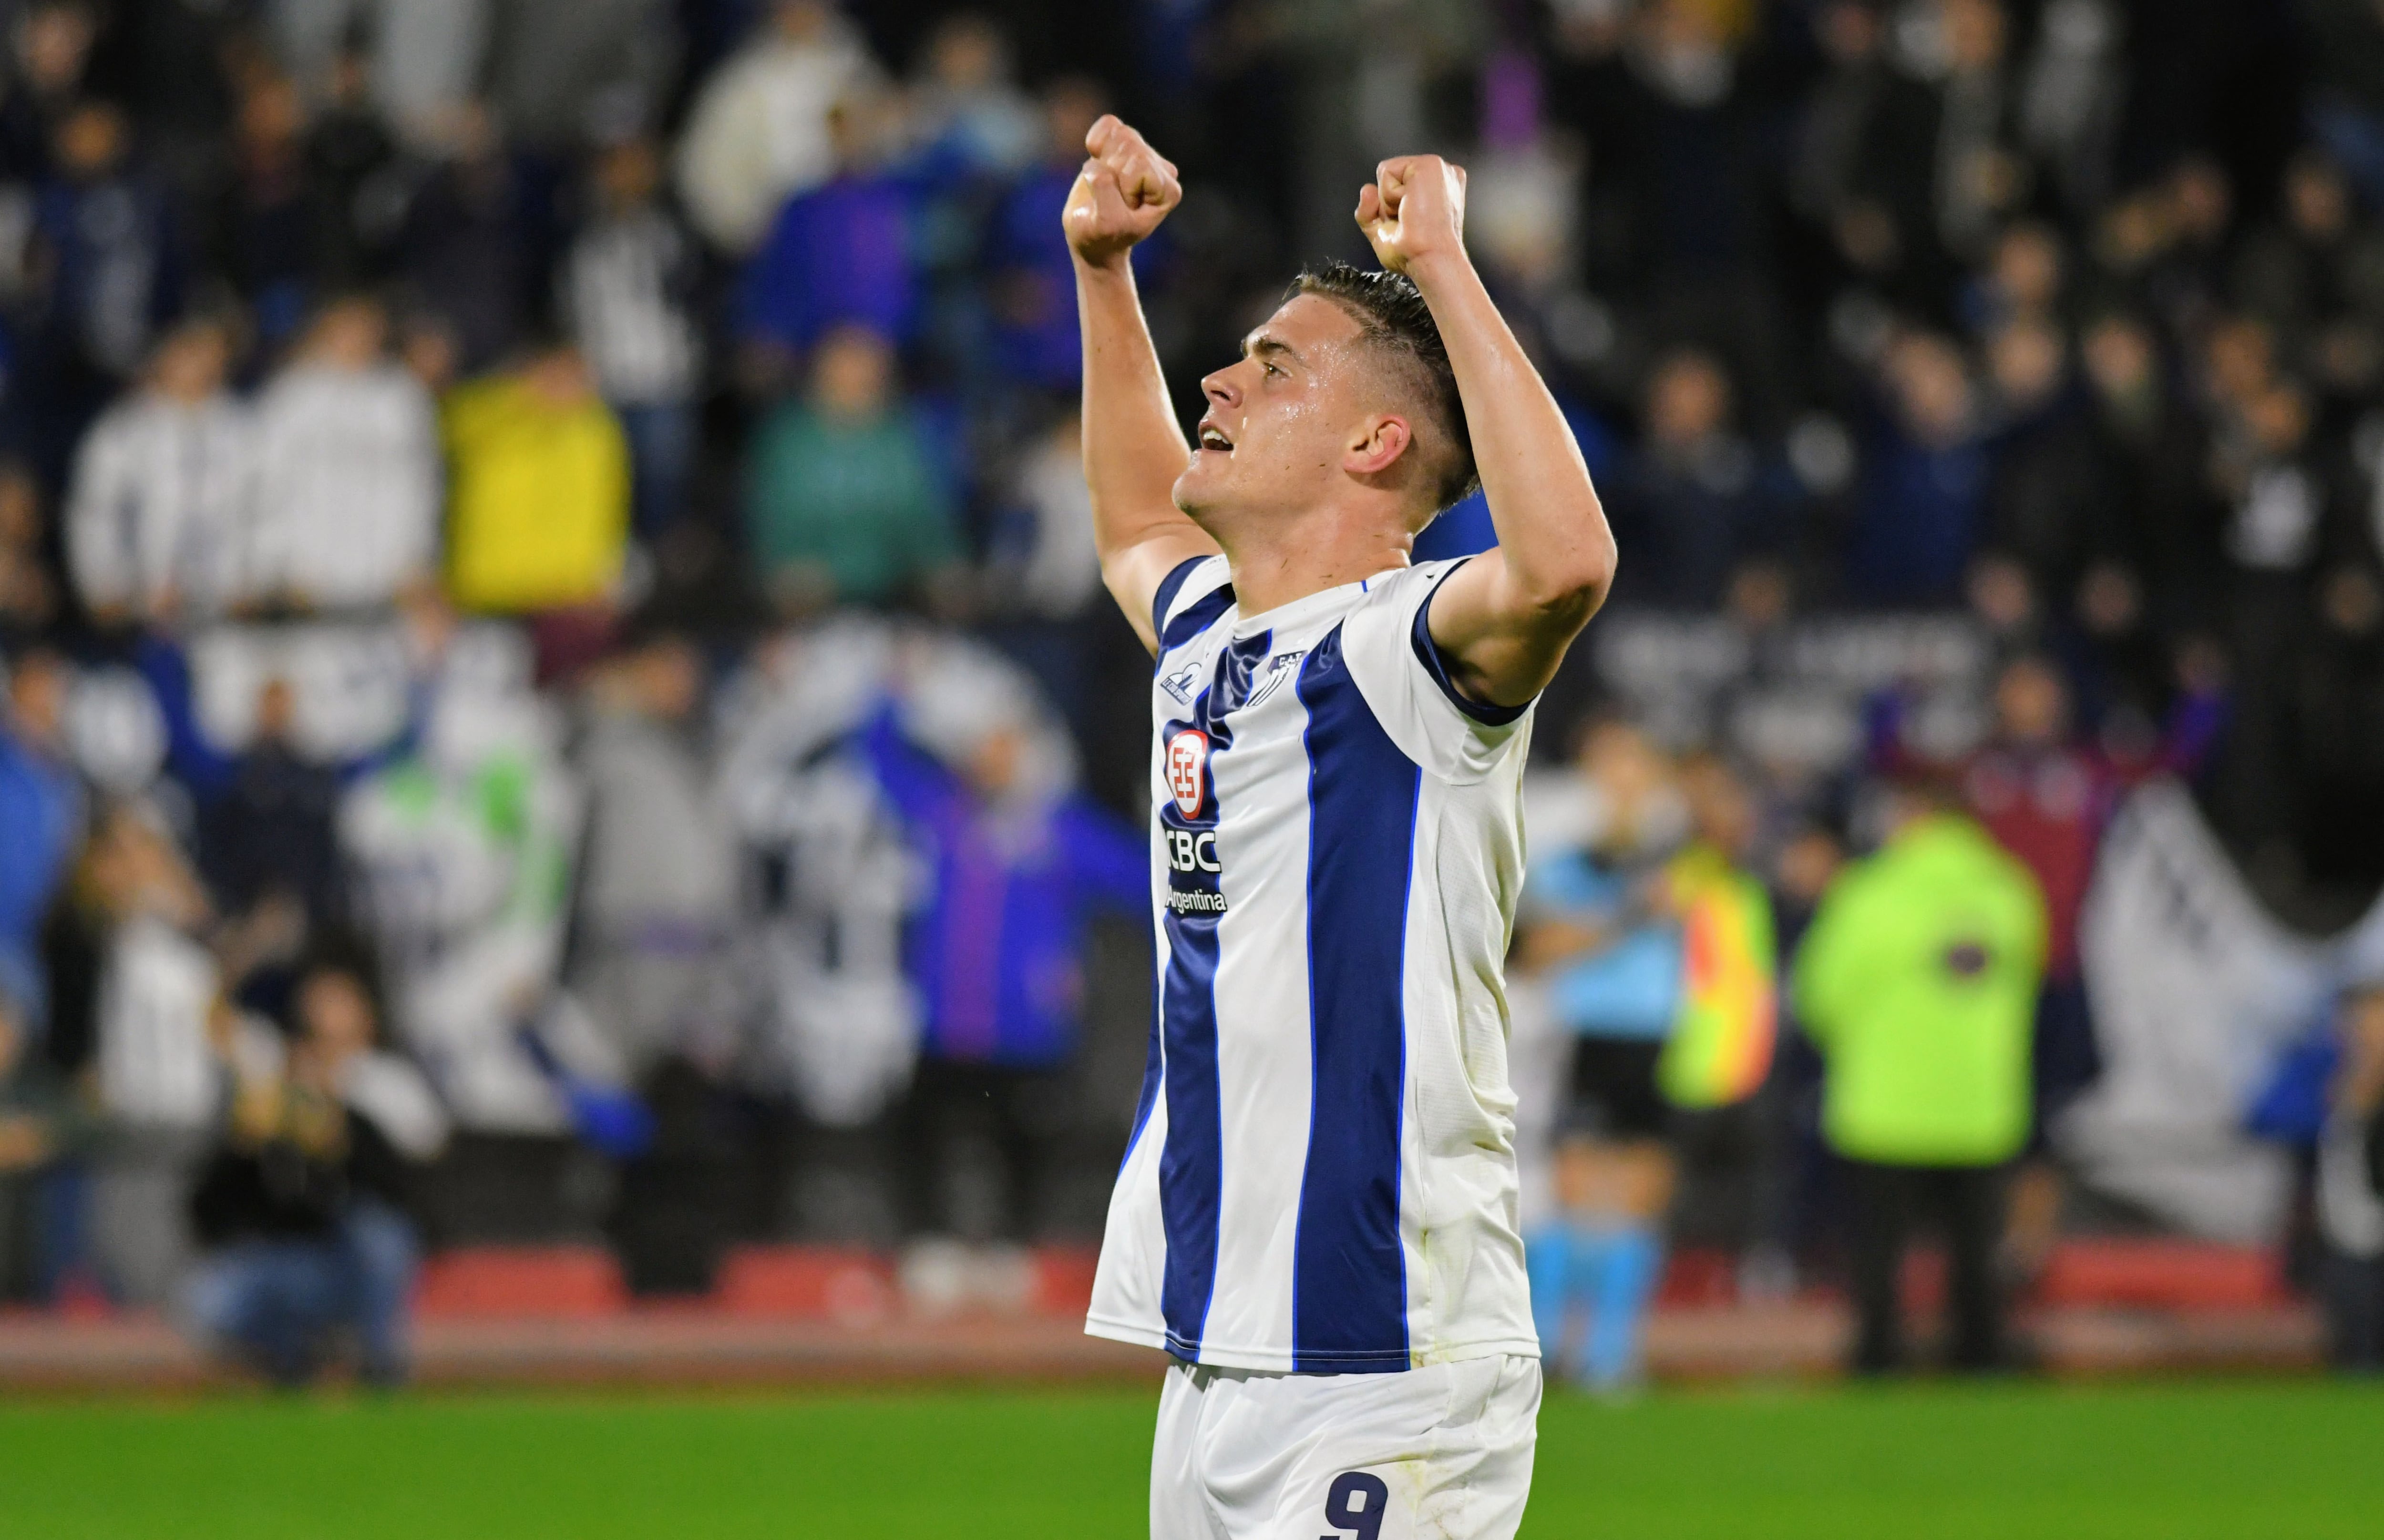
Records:
M1023 679L958 648L870 732L877 784L932 873L904 946L925 1001L904 1116L915 1235L1025 1242L1049 1225L1075 1128L1085 920L1137 911L1151 884L1147 839L1075 791L1073 758ZM989 1168L999 1197L970 1204Z

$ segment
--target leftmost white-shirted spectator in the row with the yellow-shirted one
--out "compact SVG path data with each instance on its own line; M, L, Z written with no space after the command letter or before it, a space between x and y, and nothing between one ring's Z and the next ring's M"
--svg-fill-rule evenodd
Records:
M76 451L67 565L100 625L205 620L231 598L257 429L224 391L229 365L222 322L184 322Z

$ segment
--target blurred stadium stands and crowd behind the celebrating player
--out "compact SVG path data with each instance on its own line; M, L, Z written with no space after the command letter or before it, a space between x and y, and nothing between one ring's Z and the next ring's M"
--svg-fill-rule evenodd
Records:
M1616 524L1511 965L1562 1373L2384 1356L2384 5L0 38L0 1385L1147 1371L1104 110L1187 412L1459 157ZM1948 1056L1898 925L1986 889Z

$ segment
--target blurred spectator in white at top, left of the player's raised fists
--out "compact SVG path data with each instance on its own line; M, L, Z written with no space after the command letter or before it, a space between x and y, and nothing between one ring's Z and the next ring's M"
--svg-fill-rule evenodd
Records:
M744 257L780 207L837 172L830 110L880 69L830 0L772 0L737 57L703 83L679 141L679 195L703 238Z

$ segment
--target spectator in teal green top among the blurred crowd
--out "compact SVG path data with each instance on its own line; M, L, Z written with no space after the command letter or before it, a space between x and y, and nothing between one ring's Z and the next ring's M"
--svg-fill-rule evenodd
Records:
M954 498L925 429L894 393L894 348L858 327L827 334L811 391L753 436L746 520L782 615L949 594L961 560Z

